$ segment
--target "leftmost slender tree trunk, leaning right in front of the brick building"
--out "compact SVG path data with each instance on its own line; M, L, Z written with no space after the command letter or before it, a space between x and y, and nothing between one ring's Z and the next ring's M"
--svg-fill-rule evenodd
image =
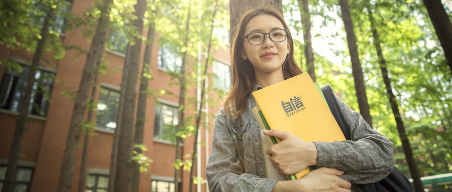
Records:
M49 35L49 21L53 18L54 12L55 10L49 7L44 19L44 25L41 28L41 39L38 39L38 45L36 46L35 53L33 54L32 63L28 72L27 85L19 107L19 118L17 119L13 142L11 143L10 156L8 158L7 171L5 173L5 180L3 181L2 191L5 192L13 191L13 182L16 178L16 170L21 152L22 139L25 132L28 108L30 107L31 94L33 92L33 84L35 83L35 75L38 71L39 62L44 51L44 44L46 43L47 36Z

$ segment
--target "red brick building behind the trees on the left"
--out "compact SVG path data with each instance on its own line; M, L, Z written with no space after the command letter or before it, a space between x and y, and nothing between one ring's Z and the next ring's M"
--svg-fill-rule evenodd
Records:
M92 1L90 0L74 0L71 12L79 15L83 14L84 10L91 4ZM143 34L146 35L147 33ZM88 39L83 38L79 31L66 32L62 34L61 40L66 42L69 37L69 44L81 46L86 50L89 49ZM159 46L161 42L158 37L156 37L154 42L152 61L150 63L151 75L154 79L150 81L149 88L168 90L175 93L175 95L159 95L156 100L151 97L148 98L146 106L147 121L144 129L144 144L148 147L148 150L144 154L152 159L153 163L151 163L151 171L149 173L141 174L140 191L174 191L173 163L175 160L175 146L168 139L159 135L165 132L165 125L177 124L177 93L179 92L179 86L169 86L172 80L166 71L171 70L174 66L177 67L178 62L181 60L170 49ZM144 44L142 52L143 50ZM108 62L107 68L110 72L115 71L117 68L123 68L125 55L120 52L121 50L111 50L111 47L107 47L104 52L104 59ZM30 109L29 121L26 124L26 132L22 143L19 168L15 181L15 189L18 191L55 191L57 188L64 146L71 120L71 111L73 109L73 101L66 97L63 92L71 87L75 87L72 90L76 90L86 60L86 55L81 55L78 60L74 59L75 55L75 51L68 51L64 58L52 60L52 53L46 52L44 57L51 61L51 65L41 62L42 66L39 68L36 78L54 76L55 80L40 81L44 87L51 89L49 94L42 94L38 91L39 88L36 88L32 95L31 103L35 107ZM142 57L143 53L141 54L141 61ZM0 58L21 64L25 69L23 72L18 73L7 70L5 65L0 65L1 185L18 118L17 111L21 103L21 93L27 80L27 66L30 65L32 55L25 51L11 51L2 45L0 46ZM211 70L217 76L210 79L208 83L217 89L227 90L230 73L229 50L221 48L215 50L212 52L211 58L214 60L213 69ZM203 64L201 61L199 63ZM98 89L95 93L95 100L98 104L97 112L93 114L93 118L96 118L97 123L94 130L96 135L91 136L89 140L86 162L88 168L86 186L78 186L82 153L82 147L79 147L71 191L75 192L79 187L85 187L85 191L106 191L121 78L122 70L119 70L114 73L100 75L97 80ZM191 86L188 92L192 96L196 96L196 88L196 86ZM49 97L50 101L47 101L46 97ZM196 162L193 162L196 164L195 176L203 177L204 179L204 170L213 132L213 115L216 114L221 104L217 94L208 93L207 97L210 99L215 98L217 104L207 105L203 109L203 112L209 115L201 123L198 141L205 143L205 145L197 146L199 155L196 158ZM191 107L195 108L195 104ZM191 154L193 142L193 136L185 139L182 155ZM83 138L80 139L80 143L83 143ZM179 180L181 191L188 191L189 171L181 171ZM205 183L194 185L193 189L193 191L208 191Z

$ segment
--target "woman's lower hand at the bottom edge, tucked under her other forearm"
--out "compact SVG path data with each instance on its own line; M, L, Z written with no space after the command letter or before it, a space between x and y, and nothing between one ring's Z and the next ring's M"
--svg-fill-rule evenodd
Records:
M277 181L272 192L279 191L350 191L352 183L339 177L344 171L320 167L303 178Z

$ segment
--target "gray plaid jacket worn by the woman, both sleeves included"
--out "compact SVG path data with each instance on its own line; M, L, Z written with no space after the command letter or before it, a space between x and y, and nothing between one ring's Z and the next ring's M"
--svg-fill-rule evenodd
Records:
M255 86L253 91L261 88ZM336 96L351 140L313 142L318 151L317 167L344 170L341 176L356 184L376 182L394 167L393 144L373 130L356 111ZM257 106L248 98L248 111L239 118L221 108L215 119L212 148L205 170L210 191L271 191L277 180L265 178L259 125L251 112ZM352 191L361 191L352 184Z

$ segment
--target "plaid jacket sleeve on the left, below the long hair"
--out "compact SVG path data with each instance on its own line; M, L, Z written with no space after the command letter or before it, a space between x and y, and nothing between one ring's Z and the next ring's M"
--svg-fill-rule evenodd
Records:
M205 169L209 190L271 191L276 180L245 173L239 155L241 140L237 134L232 131L230 119L221 108L215 118L212 148Z

